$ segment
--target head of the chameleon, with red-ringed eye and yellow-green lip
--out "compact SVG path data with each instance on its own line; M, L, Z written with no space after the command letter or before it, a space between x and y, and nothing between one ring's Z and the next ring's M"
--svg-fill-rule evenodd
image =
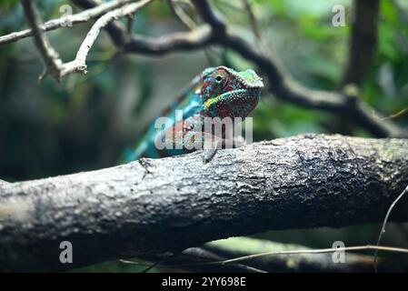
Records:
M237 72L226 66L208 68L201 89L204 115L244 120L258 104L262 87L262 79L251 69Z

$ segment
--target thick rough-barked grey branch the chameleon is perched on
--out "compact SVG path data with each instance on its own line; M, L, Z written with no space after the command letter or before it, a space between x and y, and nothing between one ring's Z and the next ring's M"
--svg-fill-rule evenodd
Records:
M406 184L408 140L342 135L226 149L205 165L196 152L4 184L0 270L64 270L272 229L380 222ZM393 219L407 220L398 209ZM64 240L73 264L59 262Z

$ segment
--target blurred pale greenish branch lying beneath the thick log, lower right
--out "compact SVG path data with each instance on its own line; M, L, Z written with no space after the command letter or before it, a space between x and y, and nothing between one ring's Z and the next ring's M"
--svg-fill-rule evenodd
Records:
M198 256L185 256L185 252L189 250L197 250ZM254 254L270 253L276 251L298 251L306 252L311 248L306 246L299 246L293 244L281 244L264 239L257 239L252 237L230 237L228 239L217 240L209 242L201 247L193 247L180 255L171 256L166 259L159 267L164 268L164 271L170 269L183 269L193 272L254 272L246 269L246 267L255 267L267 272L372 272L373 271L373 257L367 255L355 254L353 252L344 252L342 264L333 260L333 255L330 253L320 254L293 254L285 253L281 256L258 256L250 258L241 262L245 264L242 270L231 269L236 266L236 263L230 264L213 264L201 265L206 262L220 262L226 259L250 256ZM200 259L202 251L210 251L214 256L204 256ZM337 253L338 254L338 253ZM215 258L224 257L221 258ZM337 256L341 258L340 256ZM408 264L404 260L395 260L381 258L380 268L386 272L392 271L406 271ZM137 264L137 263L136 263Z

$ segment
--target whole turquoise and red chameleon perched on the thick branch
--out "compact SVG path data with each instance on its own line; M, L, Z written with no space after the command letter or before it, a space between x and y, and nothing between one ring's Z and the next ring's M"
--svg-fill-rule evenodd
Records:
M206 163L227 142L233 147L243 146L242 139L227 137L231 126L224 125L221 132L214 133L213 127L209 126L213 130L208 130L205 125L213 117L229 117L233 125L244 120L258 104L263 87L262 78L252 69L235 71L224 65L204 69L174 103L164 109L161 116L167 118L161 128L158 129L156 123L149 125L136 145L125 150L123 161L179 156L194 151L198 146L204 147ZM163 140L170 146L157 146L157 141ZM212 143L206 144L207 140Z

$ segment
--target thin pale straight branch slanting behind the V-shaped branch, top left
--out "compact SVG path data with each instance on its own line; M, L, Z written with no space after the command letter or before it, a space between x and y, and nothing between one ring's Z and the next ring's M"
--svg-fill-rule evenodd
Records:
M75 15L65 15L56 19L49 20L43 25L38 25L42 31L55 30L57 28L66 27L67 25L77 25L88 22L89 20L104 15L105 13L123 6L134 0L112 0L101 5L97 5L93 8L84 10ZM22 31L14 32L8 35L0 36L0 45L13 43L25 37L33 36L32 29L25 29Z

